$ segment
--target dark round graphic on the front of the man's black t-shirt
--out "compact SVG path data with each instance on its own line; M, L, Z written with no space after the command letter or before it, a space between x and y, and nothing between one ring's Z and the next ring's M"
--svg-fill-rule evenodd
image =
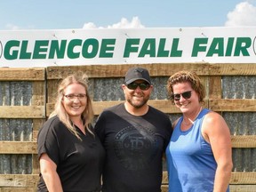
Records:
M125 127L116 134L115 150L117 158L125 169L132 171L147 169L148 164L156 156L156 136L147 127Z

